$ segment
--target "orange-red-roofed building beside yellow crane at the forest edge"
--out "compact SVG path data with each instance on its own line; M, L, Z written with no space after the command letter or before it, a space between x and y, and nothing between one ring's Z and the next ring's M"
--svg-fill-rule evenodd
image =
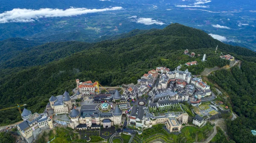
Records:
M97 82L80 82L79 79L76 79L76 88L82 95L94 95L97 94L97 92L99 91L97 87Z

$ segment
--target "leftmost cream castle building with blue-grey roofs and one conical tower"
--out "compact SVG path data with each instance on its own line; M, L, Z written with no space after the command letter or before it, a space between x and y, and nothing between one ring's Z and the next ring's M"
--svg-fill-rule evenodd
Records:
M21 114L23 122L18 124L17 129L23 140L27 143L32 143L34 139L42 132L44 129L52 129L52 119L48 117L46 113L32 114L31 111L24 108Z

